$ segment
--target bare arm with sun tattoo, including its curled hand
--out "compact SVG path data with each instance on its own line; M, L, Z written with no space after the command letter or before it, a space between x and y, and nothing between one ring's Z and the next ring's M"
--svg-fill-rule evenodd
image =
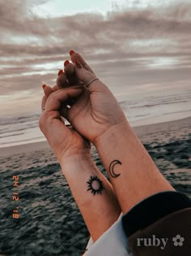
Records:
M88 141L73 128L66 127L59 112L62 103L70 98L78 98L82 90L79 86L55 92L51 92L46 86L45 90L46 93L49 91L49 95L47 94L48 97L44 97L42 102L42 109L45 110L40 117L40 129L57 155L91 237L96 241L117 220L121 209L111 184L91 160ZM99 180L93 185L100 191L95 195L91 193L92 189L87 191L87 182L91 176Z

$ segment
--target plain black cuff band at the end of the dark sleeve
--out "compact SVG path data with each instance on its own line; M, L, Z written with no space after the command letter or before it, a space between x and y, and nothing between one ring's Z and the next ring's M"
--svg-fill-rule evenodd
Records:
M150 226L155 221L177 210L191 207L191 200L183 193L167 191L147 197L122 218L126 236Z

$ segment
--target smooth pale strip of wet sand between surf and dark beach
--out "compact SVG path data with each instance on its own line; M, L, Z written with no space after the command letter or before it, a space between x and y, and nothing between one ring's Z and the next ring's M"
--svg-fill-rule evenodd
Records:
M184 127L191 126L191 116L186 117L184 119L177 119L173 121L158 123L158 124L145 124L140 126L133 126L131 127L134 129L134 132L137 133L138 137L141 139L142 143L146 142L149 137L155 136L156 133L159 132L168 132L169 133L176 133ZM168 140L170 138L170 134ZM178 136L176 136L177 138ZM11 145L6 147L0 147L0 155L1 156L8 156L12 154L20 154L20 153L28 153L35 150L51 150L49 143L47 141L37 141L31 142L21 145Z

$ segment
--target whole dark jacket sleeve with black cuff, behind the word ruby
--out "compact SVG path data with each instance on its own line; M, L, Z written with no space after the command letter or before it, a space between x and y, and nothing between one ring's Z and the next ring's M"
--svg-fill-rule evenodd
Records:
M191 255L191 201L172 191L146 198L123 216L134 256Z

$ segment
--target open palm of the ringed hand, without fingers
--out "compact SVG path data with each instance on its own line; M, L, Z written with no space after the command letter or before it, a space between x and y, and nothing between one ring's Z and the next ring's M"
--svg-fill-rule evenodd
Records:
M121 116L124 118L120 106L108 89L91 94L85 91L71 106L70 116L74 116L70 120L74 128L90 141L94 141L112 124L119 122Z

